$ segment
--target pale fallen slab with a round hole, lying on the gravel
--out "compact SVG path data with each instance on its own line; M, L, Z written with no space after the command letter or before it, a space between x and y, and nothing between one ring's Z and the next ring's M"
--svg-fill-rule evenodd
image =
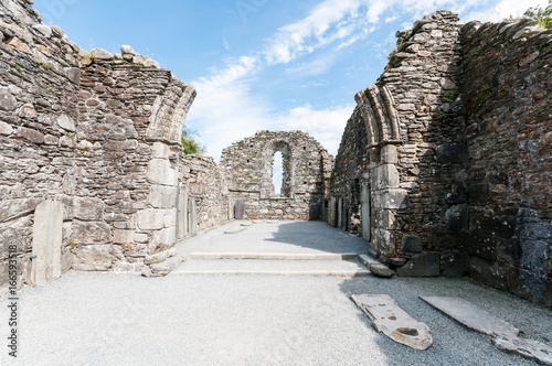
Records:
M415 349L432 346L429 327L408 315L390 295L353 294L351 299L370 317L378 332Z

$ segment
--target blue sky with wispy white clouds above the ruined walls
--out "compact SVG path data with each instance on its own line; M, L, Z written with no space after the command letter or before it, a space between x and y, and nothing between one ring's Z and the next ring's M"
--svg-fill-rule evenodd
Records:
M82 49L129 44L198 89L187 126L208 154L257 130L304 130L337 153L357 92L373 84L395 31L438 9L464 22L546 0L35 0Z

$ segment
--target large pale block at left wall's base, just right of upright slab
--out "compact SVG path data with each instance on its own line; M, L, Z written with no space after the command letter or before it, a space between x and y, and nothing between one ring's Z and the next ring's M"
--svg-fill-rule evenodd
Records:
M114 245L93 245L74 249L73 269L77 271L108 271L123 259L123 249Z

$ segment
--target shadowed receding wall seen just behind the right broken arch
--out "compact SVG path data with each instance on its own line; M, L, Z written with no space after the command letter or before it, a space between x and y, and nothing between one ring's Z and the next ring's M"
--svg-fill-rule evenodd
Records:
M359 108L355 108L341 138L336 164L331 174L331 196L333 205L339 205L339 198L342 200L342 206L336 215L335 207L328 207L333 215L327 215L328 223L351 232L352 234L362 233L362 191L370 184L370 154L368 152L368 132L364 120ZM330 200L331 202L331 200ZM330 205L328 202L328 206ZM331 209L330 209L331 208ZM346 220L337 223L339 219L339 209L342 215L347 212ZM333 218L333 222L331 220ZM367 237L367 239L369 239Z

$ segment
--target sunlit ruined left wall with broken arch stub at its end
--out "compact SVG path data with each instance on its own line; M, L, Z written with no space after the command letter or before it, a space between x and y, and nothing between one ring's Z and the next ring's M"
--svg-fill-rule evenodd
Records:
M129 46L81 50L29 1L0 1L0 287L10 245L19 286L71 268L138 271L171 256L195 90ZM62 233L50 233L57 218ZM49 250L61 258L49 262Z

